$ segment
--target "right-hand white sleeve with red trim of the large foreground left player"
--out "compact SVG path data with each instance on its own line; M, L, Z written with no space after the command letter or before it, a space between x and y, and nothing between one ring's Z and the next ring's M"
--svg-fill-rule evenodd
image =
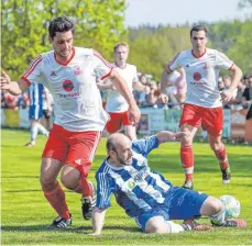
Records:
M96 76L103 80L110 76L113 67L98 52L92 51L92 65Z

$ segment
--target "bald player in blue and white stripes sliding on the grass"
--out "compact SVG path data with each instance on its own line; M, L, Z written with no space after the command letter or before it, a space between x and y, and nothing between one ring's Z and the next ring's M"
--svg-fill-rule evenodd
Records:
M114 133L107 141L108 157L96 174L97 203L92 213L92 235L101 233L110 194L125 213L134 217L146 233L178 233L187 230L208 230L197 226L194 219L210 216L220 226L245 226L242 220L226 221L220 200L194 190L173 186L161 174L151 170L147 154L161 143L179 139L189 132L162 131L146 139L131 142L123 134ZM184 220L176 224L171 220Z

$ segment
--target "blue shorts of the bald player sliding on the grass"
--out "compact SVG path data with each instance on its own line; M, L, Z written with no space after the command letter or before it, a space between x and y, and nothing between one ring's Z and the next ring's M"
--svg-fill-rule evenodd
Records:
M163 216L165 221L198 219L201 216L200 208L208 197L198 191L172 187L164 203L142 213L135 217L135 222L142 231L145 231L147 221L154 216Z

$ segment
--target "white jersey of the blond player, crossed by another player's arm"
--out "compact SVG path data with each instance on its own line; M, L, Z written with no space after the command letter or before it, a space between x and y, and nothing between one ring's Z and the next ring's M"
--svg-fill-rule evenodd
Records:
M136 67L134 65L127 64L124 68L117 67L112 64L113 69L117 70L127 82L130 91L132 92L133 83L139 81ZM117 90L108 90L108 98L106 103L107 112L125 112L129 109L129 104L125 99Z

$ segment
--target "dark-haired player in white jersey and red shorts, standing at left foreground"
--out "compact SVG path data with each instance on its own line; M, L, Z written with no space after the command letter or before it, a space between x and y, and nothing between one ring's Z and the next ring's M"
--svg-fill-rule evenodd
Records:
M111 78L129 103L129 118L140 119L140 110L124 85L100 54L73 46L75 25L67 16L54 19L48 26L51 52L41 54L18 81L2 71L1 89L20 94L31 83L43 83L54 98L55 122L42 155L41 185L44 197L57 213L52 227L72 224L65 192L57 182L83 194L83 215L91 217L94 186L87 176L109 115L102 109L96 78Z

